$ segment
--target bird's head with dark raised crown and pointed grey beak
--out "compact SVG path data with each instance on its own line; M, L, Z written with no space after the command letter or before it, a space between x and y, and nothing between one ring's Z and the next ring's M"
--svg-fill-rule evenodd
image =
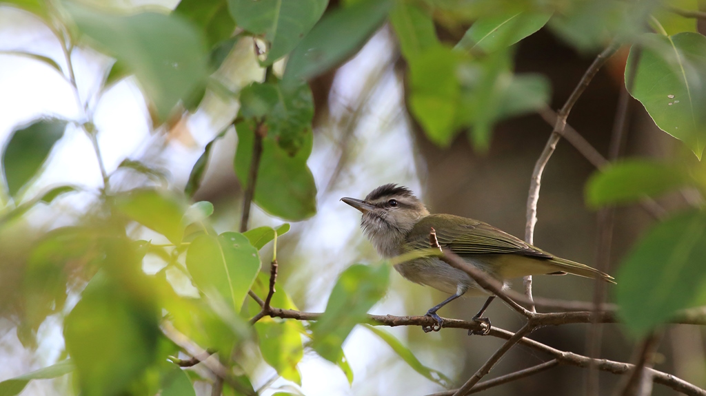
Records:
M381 185L365 199L341 198L363 214L361 227L383 256L397 253L405 236L421 218L429 216L426 206L407 187Z

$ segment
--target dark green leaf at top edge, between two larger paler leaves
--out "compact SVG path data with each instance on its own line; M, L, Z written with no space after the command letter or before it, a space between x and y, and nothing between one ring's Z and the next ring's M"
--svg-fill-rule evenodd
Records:
M181 0L174 14L189 20L203 31L208 48L227 40L235 30L235 23L228 15L227 0Z

